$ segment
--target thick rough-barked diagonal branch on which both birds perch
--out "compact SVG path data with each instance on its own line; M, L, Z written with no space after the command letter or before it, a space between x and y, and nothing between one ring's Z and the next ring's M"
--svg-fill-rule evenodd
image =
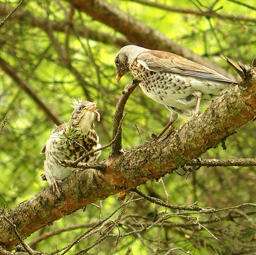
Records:
M247 66L247 77L216 99L203 114L176 129L166 140L148 141L131 151L112 154L105 171L83 170L62 185L58 199L50 188L39 192L0 217L0 245L11 250L19 243L7 217L24 239L63 216L110 195L160 178L217 147L236 129L256 116L256 70Z

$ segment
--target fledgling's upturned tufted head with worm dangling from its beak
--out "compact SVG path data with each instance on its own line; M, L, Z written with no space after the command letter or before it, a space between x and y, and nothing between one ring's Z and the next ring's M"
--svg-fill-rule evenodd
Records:
M80 99L73 99L72 103L74 111L69 120L72 126L83 132L93 129L95 114L97 115L98 121L100 121L100 114L96 110L96 104L89 101L82 101Z

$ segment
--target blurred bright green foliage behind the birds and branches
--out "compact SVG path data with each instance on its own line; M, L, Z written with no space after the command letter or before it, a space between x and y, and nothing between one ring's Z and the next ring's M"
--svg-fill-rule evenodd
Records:
M255 24L237 21L207 18L192 14L183 14L160 10L151 6L144 6L132 1L108 1L132 17L141 20L151 28L163 32L167 37L191 49L191 51L208 60L218 63L230 73L235 73L221 58L220 54L239 61L243 64L251 63L256 55ZM187 9L197 9L198 1L158 1L169 6ZM211 6L215 1L200 1L204 6ZM238 2L238 3L237 3ZM214 9L221 8L220 14L236 14L255 17L255 9L249 9L246 4L255 8L255 1L219 1ZM1 9L14 8L17 1L1 1ZM11 9L12 9L11 8ZM25 1L19 11L27 12L26 18L9 19L1 28L0 54L15 72L37 92L43 101L50 106L62 122L67 122L72 113L71 100L74 98L88 99L85 90L70 68L65 67L63 59L54 47L48 34L40 25L31 25L31 19L48 19L59 23L65 22L69 15L70 5L65 1ZM1 20L4 15L1 15ZM15 17L13 15L13 17ZM63 23L65 24L65 23ZM64 26L64 25L63 25ZM87 26L100 35L102 32L110 37L123 38L124 35L112 28L93 20L85 13L74 11L73 26ZM126 75L121 82L115 84L115 66L113 59L119 50L119 45L102 43L89 38L65 34L54 31L54 36L69 58L74 69L82 75L86 90L90 98L97 102L101 114L101 121L95 125L95 130L100 136L102 145L111 141L112 119L115 105L125 84L132 80L132 75ZM150 40L150 38L149 38ZM38 107L31 97L21 90L13 79L0 71L0 119L9 112L9 119L0 135L0 206L7 203L7 209L16 206L48 186L41 182L39 176L43 173L44 154L39 154L46 143L48 135L54 128L54 123ZM158 133L169 119L169 111L163 106L146 97L137 88L126 104L127 117L123 125L123 146L130 150L150 140L151 133ZM184 122L180 117L176 126ZM140 135L137 132L137 124ZM211 149L203 156L204 159L236 159L255 157L255 123L250 122L242 126L236 134L228 137L227 150L221 146ZM104 150L100 157L103 160L108 156L110 149ZM180 174L184 174L182 169ZM253 167L203 167L189 176L180 176L176 173L163 178L165 189L169 194L169 203L174 205L193 204L198 201L198 206L224 208L243 203L255 203L255 169ZM139 189L148 195L158 197L165 201L165 191L162 182L146 183ZM102 218L108 216L121 201L115 196L102 201ZM97 203L98 205L100 202ZM164 209L147 201L138 201L130 204L127 214L162 215ZM115 217L113 217L115 218ZM30 236L30 242L37 236L59 229L63 226L91 223L98 221L99 210L95 206L87 206L82 210L69 215L47 226ZM171 221L182 219L171 218ZM216 223L217 224L217 223ZM193 254L231 254L239 242L251 242L252 233L246 231L246 226L225 226L222 231L232 232L233 239L219 240L210 236L207 231L194 231L187 229L184 233L179 228L167 229L161 232L166 240L177 246L183 247ZM126 228L126 226L123 226ZM144 236L145 242L150 242L159 234L159 229L151 229ZM46 239L40 242L36 249L45 253L55 249L55 245L63 247L85 232L85 229L67 231L57 238ZM187 235L187 236L186 236ZM193 235L193 238L191 238ZM73 254L94 241L92 236L76 245L69 254ZM248 239L249 238L249 239ZM204 244L202 242L204 240ZM151 254L152 251L139 240L137 236L128 236L120 240L114 251L115 239L109 238L102 243L99 254L125 254L128 247L132 246L131 254ZM94 254L96 248L90 254ZM183 254L181 251L180 253Z

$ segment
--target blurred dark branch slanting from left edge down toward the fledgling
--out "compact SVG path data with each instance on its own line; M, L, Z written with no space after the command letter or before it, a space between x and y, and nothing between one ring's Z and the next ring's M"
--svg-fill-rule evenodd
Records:
M56 114L54 114L52 109L48 107L47 103L44 102L40 96L38 96L37 92L28 84L28 82L20 78L15 72L15 69L1 57L0 66L4 70L4 72L7 73L15 81L17 86L24 90L31 97L31 99L33 99L33 101L38 105L38 107L45 112L49 120L51 120L57 126L63 123L59 119L59 117Z

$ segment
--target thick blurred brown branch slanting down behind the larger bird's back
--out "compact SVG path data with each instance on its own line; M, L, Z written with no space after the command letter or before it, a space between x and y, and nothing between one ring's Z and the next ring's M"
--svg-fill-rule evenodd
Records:
M101 21L115 31L124 34L133 44L149 48L169 51L188 58L204 66L207 66L230 79L234 79L230 73L219 65L209 62L201 56L193 53L188 48L175 43L167 38L165 34L158 32L131 15L121 11L113 4L101 0L66 0L73 4L78 10L90 15L93 19Z

